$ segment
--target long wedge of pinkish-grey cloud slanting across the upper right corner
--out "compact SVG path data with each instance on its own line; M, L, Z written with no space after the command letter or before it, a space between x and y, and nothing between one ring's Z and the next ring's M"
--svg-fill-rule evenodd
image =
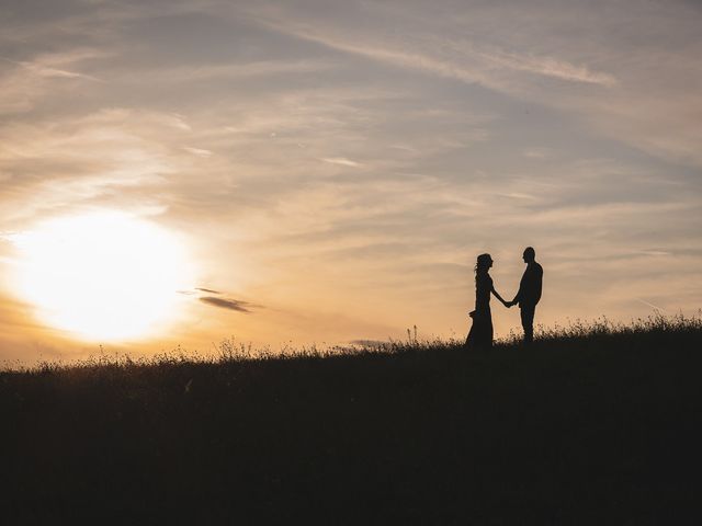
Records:
M633 24L622 23L629 2L608 4L605 18L548 1L352 5L339 15L275 3L248 12L281 34L567 112L649 155L702 165L702 98L690 89L702 81L702 13L691 5L637 9Z

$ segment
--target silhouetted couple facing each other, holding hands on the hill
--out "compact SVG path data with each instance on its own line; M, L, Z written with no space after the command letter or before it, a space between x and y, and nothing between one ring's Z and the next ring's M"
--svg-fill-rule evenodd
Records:
M492 258L490 258L490 254L478 255L475 264L475 310L469 315L473 318L473 327L471 327L471 332L468 332L468 338L465 341L466 347L487 350L492 346L490 294L494 294L507 308L519 305L524 330L524 344L528 345L534 341L534 311L536 310L536 304L541 299L544 275L544 271L536 263L535 256L536 252L531 247L524 250L523 259L524 263L526 263L526 270L519 284L519 291L514 299L505 301L495 290L492 278L488 272L492 266Z

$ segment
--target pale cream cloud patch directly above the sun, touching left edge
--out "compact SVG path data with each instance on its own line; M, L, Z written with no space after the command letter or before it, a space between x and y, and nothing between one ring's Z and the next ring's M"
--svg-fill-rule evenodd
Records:
M0 129L0 170L10 174L0 217L9 221L15 214L36 217L57 206L105 206L129 191L140 194L131 199L135 208L162 209L157 199L144 197L148 188L166 183L176 167L188 165L190 156L177 155L178 145L163 144L166 136L178 142L179 134L159 114L118 108L9 124ZM128 199L118 201L125 206Z

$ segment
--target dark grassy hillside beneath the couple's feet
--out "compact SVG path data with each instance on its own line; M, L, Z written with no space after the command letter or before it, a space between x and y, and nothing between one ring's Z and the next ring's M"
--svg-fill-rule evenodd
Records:
M702 524L701 374L699 319L5 371L0 522Z

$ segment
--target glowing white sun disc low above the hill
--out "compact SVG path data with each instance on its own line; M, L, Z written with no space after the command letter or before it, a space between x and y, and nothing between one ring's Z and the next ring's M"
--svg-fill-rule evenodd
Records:
M19 294L46 324L84 340L146 338L177 316L178 291L192 287L178 238L122 213L49 220L18 248Z

